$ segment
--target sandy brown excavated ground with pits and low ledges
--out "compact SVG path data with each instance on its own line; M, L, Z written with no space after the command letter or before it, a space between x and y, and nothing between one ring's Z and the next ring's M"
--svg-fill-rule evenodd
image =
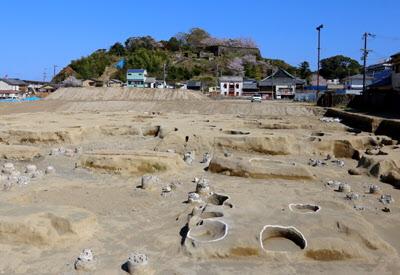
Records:
M26 114L3 115L1 165L12 162L19 177L28 176L28 164L40 171L53 166L55 173L0 193L5 209L20 213L0 213L0 271L74 274L76 256L91 249L98 274L125 274L121 266L136 251L149 257L155 274L288 273L288 263L297 273L395 272L397 142L320 117L56 112L29 114L27 124ZM51 148L76 146L83 152L49 155ZM189 151L196 156L190 164L183 160ZM202 163L206 152L213 154L210 164ZM382 182L389 173L390 183ZM12 180L2 175L3 187ZM159 180L144 190L143 175ZM187 202L194 177L210 183L200 213ZM163 192L177 180L182 184ZM330 181L347 183L351 192L338 192ZM379 201L372 185L394 201ZM304 215L290 204L321 209ZM306 247L274 229L267 236L274 249L266 249L260 234L267 225L296 228Z

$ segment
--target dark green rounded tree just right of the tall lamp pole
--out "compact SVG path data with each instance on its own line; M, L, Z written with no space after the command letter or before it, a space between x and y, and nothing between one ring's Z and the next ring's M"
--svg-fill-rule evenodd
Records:
M342 79L349 74L359 74L361 71L362 67L356 60L336 55L321 60L319 74L325 79Z

